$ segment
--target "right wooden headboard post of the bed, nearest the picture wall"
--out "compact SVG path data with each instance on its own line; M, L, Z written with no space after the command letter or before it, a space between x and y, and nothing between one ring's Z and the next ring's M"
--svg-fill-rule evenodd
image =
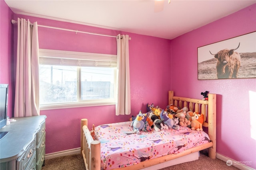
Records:
M216 94L208 94L208 135L213 143L209 157L216 158Z

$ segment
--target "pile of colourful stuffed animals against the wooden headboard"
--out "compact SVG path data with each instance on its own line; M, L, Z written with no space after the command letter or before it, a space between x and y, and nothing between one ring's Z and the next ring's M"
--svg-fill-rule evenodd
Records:
M207 91L206 91L207 94ZM163 129L179 130L180 127L190 127L192 130L202 131L204 115L189 111L188 107L179 108L173 104L166 106L165 109L159 106L154 107L152 103L146 105L147 113L141 111L136 117L132 117L131 127L134 133L140 131L161 131ZM149 127L150 129L146 128Z

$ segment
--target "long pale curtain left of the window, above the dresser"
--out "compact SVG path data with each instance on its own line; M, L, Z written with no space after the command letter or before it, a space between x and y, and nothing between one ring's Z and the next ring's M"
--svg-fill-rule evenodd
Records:
M14 117L40 115L38 26L18 18Z

